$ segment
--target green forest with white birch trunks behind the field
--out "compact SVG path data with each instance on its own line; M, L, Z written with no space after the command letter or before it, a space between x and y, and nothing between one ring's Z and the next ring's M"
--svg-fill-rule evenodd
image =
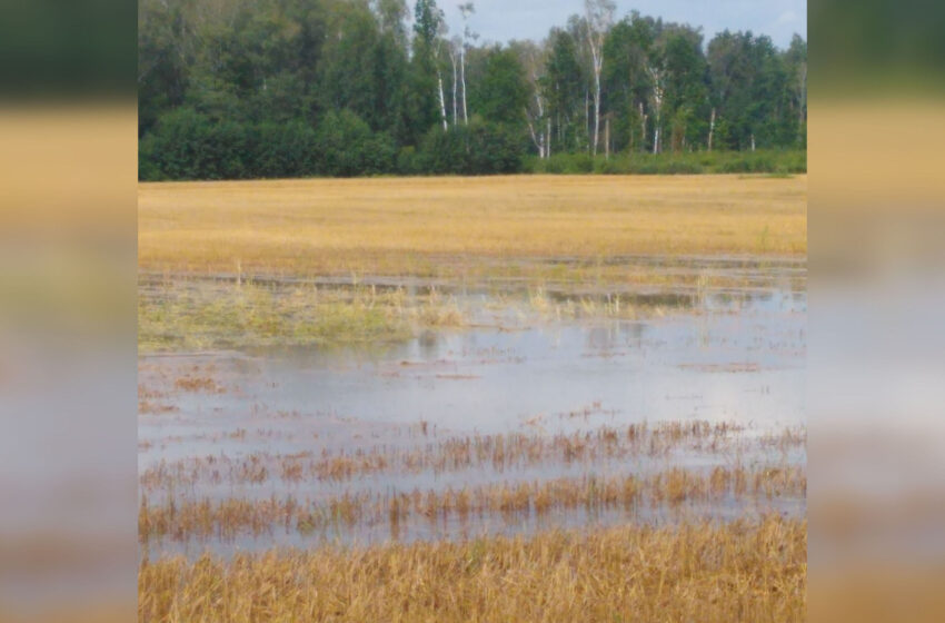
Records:
M436 0L139 0L139 179L806 170L807 42L575 0L541 41Z

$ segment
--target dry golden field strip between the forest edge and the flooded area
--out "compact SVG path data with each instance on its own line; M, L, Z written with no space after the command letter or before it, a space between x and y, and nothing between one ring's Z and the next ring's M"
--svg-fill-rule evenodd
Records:
M152 271L457 275L516 258L803 255L806 197L806 176L141 184L138 257Z

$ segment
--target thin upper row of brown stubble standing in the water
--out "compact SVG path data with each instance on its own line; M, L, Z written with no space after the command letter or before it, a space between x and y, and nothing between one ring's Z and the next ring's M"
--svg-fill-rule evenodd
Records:
M425 425L421 423L421 432ZM428 426L426 431L425 436L429 434ZM674 452L718 455L736 449L747 452L769 447L787 452L802 447L806 441L806 432L795 428L785 429L782 434L766 434L757 442L744 438L743 432L744 427L733 423L670 421L626 427L600 426L551 436L521 433L452 436L410 447L385 444L350 451L324 448L319 454L208 455L161 462L145 469L139 484L143 491L152 492L176 485L193 486L201 482L260 484L268 478L286 484L345 483L374 474L429 472L439 475L484 468L505 473L539 465L591 465L600 461L635 457L663 458Z

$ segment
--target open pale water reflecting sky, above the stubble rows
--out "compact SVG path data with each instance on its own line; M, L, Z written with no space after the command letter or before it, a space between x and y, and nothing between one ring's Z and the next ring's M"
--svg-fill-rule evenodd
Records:
M803 424L804 295L709 300L704 309L645 322L428 333L382 352L162 357L162 365L213 363L218 380L239 392L176 394L178 413L142 416L140 439L190 441L156 444L142 451L141 464L221 451L312 449L316 434L316 445L358 445L420 421L439 434L523 431L526 422L545 433L696 418L762 431ZM560 416L594 404L609 415ZM245 439L219 438L237 428L248 432ZM275 434L253 435L259 429Z

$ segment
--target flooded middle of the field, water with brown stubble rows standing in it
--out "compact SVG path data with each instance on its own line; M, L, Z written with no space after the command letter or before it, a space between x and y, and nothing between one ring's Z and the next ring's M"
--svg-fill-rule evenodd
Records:
M460 319L401 312L407 338L142 354L142 543L231 554L803 516L803 265L713 267L726 287L371 284L407 310L435 293ZM146 280L142 296L241 287Z

